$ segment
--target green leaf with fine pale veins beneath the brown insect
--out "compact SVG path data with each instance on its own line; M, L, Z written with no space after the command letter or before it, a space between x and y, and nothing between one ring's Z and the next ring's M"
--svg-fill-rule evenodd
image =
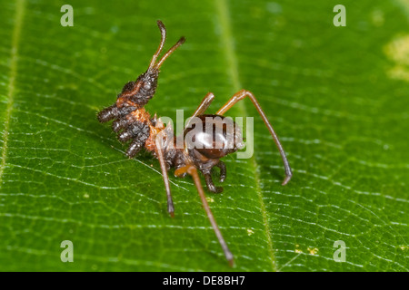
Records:
M5 1L4 1L5 2ZM0 270L407 271L409 5L335 1L3 3L0 11ZM251 102L254 157L225 158L207 193L236 266L227 266L191 178L171 174L166 212L157 160L125 157L97 111L144 73L167 27L170 47L146 109L175 118L205 93L217 111L254 92L294 169ZM63 263L61 242L74 245ZM344 241L345 262L335 262Z

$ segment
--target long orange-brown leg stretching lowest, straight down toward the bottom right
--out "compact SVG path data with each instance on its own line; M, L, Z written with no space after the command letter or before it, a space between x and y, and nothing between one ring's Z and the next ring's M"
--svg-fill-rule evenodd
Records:
M185 172L190 174L195 181L195 186L197 192L199 193L200 199L202 199L203 207L205 208L207 218L209 218L210 223L214 229L214 234L216 235L217 239L219 240L220 245L223 248L224 256L229 262L230 266L234 266L234 257L232 252L230 252L229 247L227 247L226 242L224 241L224 237L222 236L222 232L220 231L219 227L217 227L217 223L214 219L212 211L210 210L209 204L207 203L207 199L205 196L205 191L203 190L202 183L200 182L199 174L197 173L197 169L194 165L186 165L183 168L177 169L175 175L182 175Z

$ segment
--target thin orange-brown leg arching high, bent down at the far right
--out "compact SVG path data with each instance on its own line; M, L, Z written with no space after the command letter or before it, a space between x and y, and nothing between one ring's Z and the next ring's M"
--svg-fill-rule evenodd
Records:
M233 97L228 102L226 102L224 106L219 111L216 112L216 114L223 115L226 111L232 108L235 103L242 101L245 97L249 97L250 100L253 102L255 109L257 109L258 113L262 117L265 123L265 126L267 126L268 131L270 131L270 134L274 139L275 145L280 151L281 158L283 159L283 162L284 162L284 169L285 169L285 179L282 184L285 185L288 183L288 181L290 181L291 177L293 176L293 173L291 171L290 165L288 164L288 160L285 156L283 146L281 145L280 140L278 140L278 137L274 132L273 126L270 124L267 117L265 116L265 113L260 107L260 104L257 102L257 100L255 100L254 94L252 92L245 91L245 90L241 90L239 92L234 93Z

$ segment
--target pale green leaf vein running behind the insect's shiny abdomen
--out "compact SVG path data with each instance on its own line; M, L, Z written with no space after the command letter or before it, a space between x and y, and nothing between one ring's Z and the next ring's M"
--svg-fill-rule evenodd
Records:
M231 78L231 81L233 83L234 92L238 92L240 89L243 89L243 88L242 88L242 84L240 82L240 77L238 74L237 55L234 50L233 34L232 34L232 28L230 24L231 23L230 14L229 14L228 7L227 7L225 0L214 0L214 4L216 7L217 16L219 18L220 28L222 31L221 42L223 43L223 46L224 46L224 54L225 54L224 56L226 59L227 75ZM241 111L243 116L248 115L244 102L238 102L237 108L239 109L239 111ZM276 272L277 266L276 266L275 257L274 257L274 247L273 247L273 242L272 242L272 238L270 235L271 233L270 227L268 225L268 213L265 208L263 193L260 187L260 175L257 171L258 164L254 158L254 155L251 157L250 160L251 160L250 163L252 165L252 170L254 172L255 190L257 192L257 197L260 202L260 209L261 209L261 213L263 217L268 254L270 256L272 269L274 272Z

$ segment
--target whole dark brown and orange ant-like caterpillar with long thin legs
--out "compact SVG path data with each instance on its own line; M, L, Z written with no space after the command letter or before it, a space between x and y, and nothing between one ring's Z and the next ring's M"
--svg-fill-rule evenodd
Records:
M217 111L215 114L205 114L205 111L214 100L212 92L207 93L203 101L199 104L192 117L196 117L203 125L202 131L194 131L194 138L197 140L210 140L211 148L208 148L209 142L200 144L200 148L190 148L186 145L185 148L177 148L176 139L173 137L173 129L169 126L165 127L164 123L154 117L151 117L148 111L145 111L145 105L155 95L157 87L157 78L159 76L159 69L165 62L167 57L175 52L176 48L182 43L185 43L185 37L179 39L169 51L167 51L162 58L157 61L159 54L162 52L165 44L166 29L165 25L157 22L161 31L161 42L152 57L151 63L145 73L142 73L135 82L127 82L120 94L118 94L116 102L98 113L98 120L102 123L106 121L113 121L112 129L117 133L118 140L122 143L129 142L126 155L129 158L134 158L135 155L142 149L151 152L155 158L159 160L162 175L164 178L166 196L167 196L167 210L171 217L175 217L175 207L172 200L169 179L167 171L175 168L175 176L185 177L186 174L192 176L199 196L202 200L205 212L209 221L214 228L214 233L223 248L224 256L229 262L230 266L234 265L234 257L227 247L224 237L217 226L212 211L209 208L205 198L205 191L202 188L201 181L198 175L200 171L205 176L205 184L208 190L214 193L223 191L222 187L214 186L212 179L212 169L217 167L220 169L220 182L224 182L226 178L226 169L224 162L220 159L227 154L234 153L243 147L241 142L241 132L234 131L234 138L229 139L228 132L224 128L224 113L228 111L235 103L244 100L248 97L254 104L256 110L262 117L264 124L273 137L275 145L280 151L284 162L285 179L283 185L292 178L292 170L285 157L284 149L275 134L272 125L267 120L264 111L257 102L252 92L241 90L234 93L228 102ZM208 118L212 119L211 126L216 129L217 134L205 131L206 125L209 125ZM235 127L235 124L234 124ZM184 135L193 131L195 126L189 123L185 127ZM164 134L165 133L165 134ZM200 134L200 136L199 136ZM172 137L169 137L172 136ZM200 138L199 138L200 137ZM229 141L231 140L230 143ZM233 141L233 144L231 143ZM222 147L215 144L222 144ZM173 145L173 146L170 146Z

